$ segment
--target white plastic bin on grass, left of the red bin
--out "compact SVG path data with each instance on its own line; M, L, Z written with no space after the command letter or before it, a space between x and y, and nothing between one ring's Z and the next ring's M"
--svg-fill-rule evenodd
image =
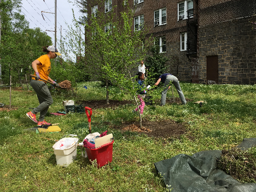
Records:
M67 138L62 138L60 141L64 141ZM68 166L70 163L72 163L75 159L76 159L76 150L77 150L77 146L78 146L78 138L74 138L74 137L68 137L68 139L73 140L75 142L75 144L73 144L70 147L65 148L64 150L59 150L59 149L55 149L56 146L58 145L58 142L56 142L52 148L54 149L54 154L56 156L56 162L57 165L60 166Z

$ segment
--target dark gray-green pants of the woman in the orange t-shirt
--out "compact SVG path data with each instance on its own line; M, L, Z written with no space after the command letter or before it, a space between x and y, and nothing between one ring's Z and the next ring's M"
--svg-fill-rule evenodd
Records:
M34 108L31 112L37 114L40 112L39 121L44 121L44 117L48 111L49 106L52 104L52 96L50 91L43 81L31 80L31 86L37 94L39 101L38 107Z

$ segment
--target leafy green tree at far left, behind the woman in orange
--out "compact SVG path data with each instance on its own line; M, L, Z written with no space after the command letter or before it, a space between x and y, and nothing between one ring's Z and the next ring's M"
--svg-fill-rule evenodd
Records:
M39 52L41 47L52 44L52 41L39 28L28 28L29 22L20 14L20 1L6 0L1 3L1 7L3 4L5 6L1 12L4 23L0 42L1 78L8 82L10 73L15 86L16 81L21 81L22 74L29 71L31 62L43 54Z

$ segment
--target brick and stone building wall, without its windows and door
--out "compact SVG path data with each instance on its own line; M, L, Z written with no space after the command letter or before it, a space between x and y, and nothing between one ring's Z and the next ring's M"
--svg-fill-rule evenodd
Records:
M94 3L91 3L94 2ZM96 1L88 0L88 16ZM219 83L256 83L256 30L250 21L256 21L256 0L198 0L194 13L198 18L198 57L186 56L180 51L180 32L185 32L186 20L178 21L178 2L182 0L144 0L133 6L134 16L144 15L144 24L154 37L166 36L166 53L170 72L181 81L206 83L206 57L218 56ZM119 14L123 0L112 0ZM166 7L166 24L154 27L154 11ZM104 12L104 1L98 4ZM198 10L198 13L196 12Z

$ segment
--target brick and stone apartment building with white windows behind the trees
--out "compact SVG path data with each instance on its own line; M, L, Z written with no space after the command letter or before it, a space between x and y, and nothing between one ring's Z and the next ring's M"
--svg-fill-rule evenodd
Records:
M134 8L180 81L256 84L256 0L88 0L88 17ZM106 30L108 28L106 27Z

